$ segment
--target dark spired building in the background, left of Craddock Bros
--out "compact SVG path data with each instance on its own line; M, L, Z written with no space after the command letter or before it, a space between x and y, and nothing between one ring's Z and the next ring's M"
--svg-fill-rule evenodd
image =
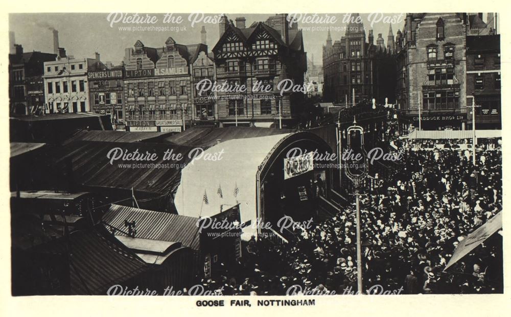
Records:
M373 98L378 102L384 102L385 97L394 99L393 81L388 80L396 67L391 54L393 41L387 50L379 34L375 45L373 30L369 30L366 41L364 24L358 17L352 15L340 40L332 42L328 32L323 45L323 101L352 105Z

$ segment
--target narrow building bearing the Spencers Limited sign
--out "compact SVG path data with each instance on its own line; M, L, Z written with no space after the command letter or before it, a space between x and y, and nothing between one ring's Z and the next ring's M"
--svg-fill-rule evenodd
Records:
M91 111L109 114L117 129L124 128L124 67L116 66L87 72Z

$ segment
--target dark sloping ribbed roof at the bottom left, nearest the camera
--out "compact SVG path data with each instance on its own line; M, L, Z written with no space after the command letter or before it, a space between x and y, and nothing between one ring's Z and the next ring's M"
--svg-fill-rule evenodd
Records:
M72 295L89 292L106 295L112 285L127 281L148 268L121 243L107 240L96 230L75 231L69 235L69 243L66 238L60 238L36 247L34 251L65 254L69 252L69 245L73 264L69 265Z

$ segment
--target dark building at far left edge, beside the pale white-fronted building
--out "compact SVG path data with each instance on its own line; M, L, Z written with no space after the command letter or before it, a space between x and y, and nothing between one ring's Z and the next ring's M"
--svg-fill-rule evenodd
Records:
M57 55L41 52L23 52L14 45L9 54L9 113L41 113L44 109L44 62L54 61Z

